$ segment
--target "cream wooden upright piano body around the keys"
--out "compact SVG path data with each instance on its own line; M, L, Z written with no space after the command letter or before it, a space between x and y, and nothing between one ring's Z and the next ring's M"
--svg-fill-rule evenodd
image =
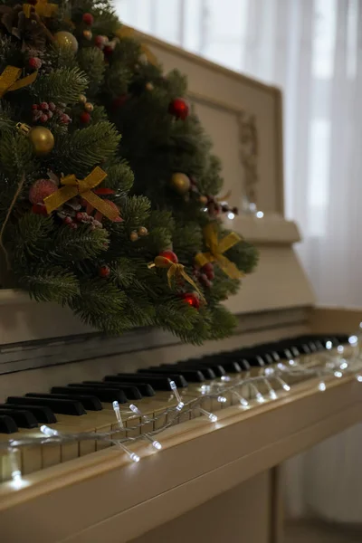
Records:
M232 338L202 347L182 345L167 333L152 329L122 338L102 338L67 310L37 304L19 292L0 291L3 409L6 401L13 408L16 401L18 405L35 406L31 396L20 403L16 398L28 393L48 394L53 386L60 387L59 394L65 394L64 386L84 386L84 381L93 382L84 388L89 397L90 388L91 395L95 394L94 382L105 376L150 367L163 367L163 372L172 371L172 375L187 370L191 376L192 371L197 374L206 367L217 373L224 364L228 376L233 355L217 353L228 351L240 357L241 349L253 346L251 357L262 357L262 363L269 364L268 348L258 346L268 344L271 351L279 346L284 353L286 346L294 346L303 356L313 342L317 345L319 340L336 337L336 346L348 337L341 335L357 329L360 311L315 307L310 283L294 251L300 234L283 215L279 90L149 36L142 39L167 70L177 66L187 73L190 99L224 160L225 188L233 191L232 204L239 205L246 195L263 212L263 216L240 214L229 224L260 250L257 271L244 281L243 290L227 301L238 315L238 328ZM271 342L277 342L273 348ZM324 354L320 351L312 356L318 360ZM199 360L195 362L195 358ZM162 366L181 360L188 360L188 366L181 364L175 370ZM303 363L304 358L300 360ZM259 372L257 366L254 364L252 371ZM242 375L247 369L241 367ZM147 372L139 375L149 383ZM323 393L319 380L318 376L305 376L291 384L290 391L279 384L275 387L278 397L273 401L255 402L250 393L248 409L233 395L227 395L225 404L209 400L206 411L217 414L216 423L205 414L196 416L181 410L175 424L157 434L161 451L146 441L131 447L140 457L138 463L129 462L117 447L92 440L29 446L19 454L23 479L16 487L9 477L8 458L0 452L2 540L281 543L282 462L362 420L362 386L354 376L326 378ZM115 378L109 382L119 384ZM122 382L124 385L124 377ZM154 396L146 397L146 392L139 400L129 396L125 405L137 404L142 414L162 414L170 395L157 383L151 380L156 388ZM179 390L193 394L199 386L190 382L185 391ZM79 390L77 394L80 398ZM86 409L81 416L71 416L64 405L55 405L52 411L58 426L51 426L70 433L112 429L116 424L110 409L112 397L101 397L102 411ZM41 405L49 404L45 401ZM40 424L39 413L35 418ZM164 416L147 424L142 432L165 424ZM126 426L132 428L140 421L137 414L126 419ZM9 437L39 434L39 424L26 428L20 421L18 432L0 433L0 443ZM139 429L129 430L129 435L135 433Z

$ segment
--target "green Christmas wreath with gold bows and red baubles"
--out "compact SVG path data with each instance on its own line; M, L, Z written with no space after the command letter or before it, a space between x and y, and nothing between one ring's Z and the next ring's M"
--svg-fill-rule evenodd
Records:
M0 18L3 277L111 334L228 335L221 302L256 252L224 229L237 209L185 77L107 0L5 0Z

